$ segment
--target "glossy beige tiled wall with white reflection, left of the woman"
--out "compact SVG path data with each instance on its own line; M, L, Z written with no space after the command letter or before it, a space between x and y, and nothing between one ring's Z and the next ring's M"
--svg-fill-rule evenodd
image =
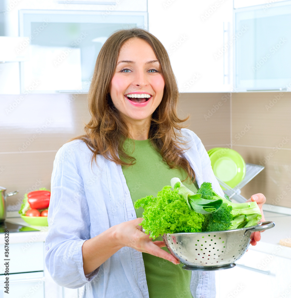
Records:
M28 94L0 96L0 186L9 211L19 210L23 195L50 189L57 150L83 134L89 119L85 94Z

